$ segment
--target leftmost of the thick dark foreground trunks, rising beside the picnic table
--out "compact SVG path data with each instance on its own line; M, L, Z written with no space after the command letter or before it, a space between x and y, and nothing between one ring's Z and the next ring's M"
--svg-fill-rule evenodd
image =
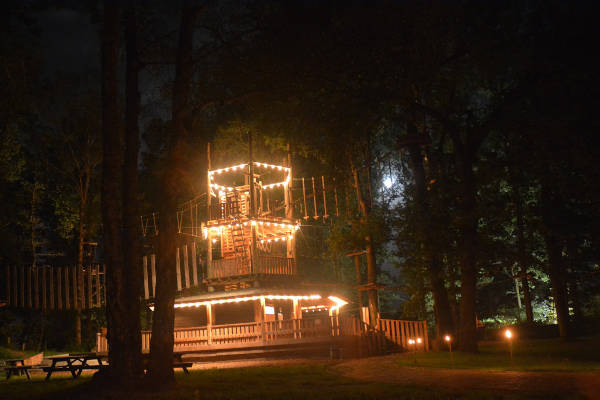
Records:
M111 382L122 386L135 384L141 377L136 358L140 351L139 312L136 313L137 290L128 282L132 274L124 262L122 192L123 151L119 123L118 92L119 7L116 1L104 3L102 32L102 223L106 258L109 369ZM135 298L135 304L132 299Z

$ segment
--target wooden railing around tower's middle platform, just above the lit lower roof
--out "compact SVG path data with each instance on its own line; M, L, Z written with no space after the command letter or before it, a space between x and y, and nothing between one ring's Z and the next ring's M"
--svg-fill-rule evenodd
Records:
M277 256L254 256L249 258L224 258L212 260L208 268L208 279L222 279L250 274L288 275L296 274L296 261L293 258Z

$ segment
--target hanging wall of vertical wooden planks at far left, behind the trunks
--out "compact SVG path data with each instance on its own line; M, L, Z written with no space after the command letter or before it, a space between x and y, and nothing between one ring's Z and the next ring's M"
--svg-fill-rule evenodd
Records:
M78 278L82 280L81 291ZM101 307L106 296L104 266L6 266L0 298L15 308L42 310Z

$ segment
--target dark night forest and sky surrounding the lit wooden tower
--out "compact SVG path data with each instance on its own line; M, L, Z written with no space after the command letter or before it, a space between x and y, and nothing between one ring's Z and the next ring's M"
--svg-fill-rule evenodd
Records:
M302 228L309 278L354 284L346 254L372 245L382 315L465 350L475 316L597 329L592 2L176 3L2 3L0 265L108 259L135 277L140 249L107 244L135 247L140 215L205 192L207 143L226 166L250 132L257 158L289 146L296 176L340 185L344 212ZM137 175L122 196L103 180L119 169ZM124 209L108 234L101 195ZM75 313L0 314L4 341L77 345ZM90 345L104 311L84 320Z

